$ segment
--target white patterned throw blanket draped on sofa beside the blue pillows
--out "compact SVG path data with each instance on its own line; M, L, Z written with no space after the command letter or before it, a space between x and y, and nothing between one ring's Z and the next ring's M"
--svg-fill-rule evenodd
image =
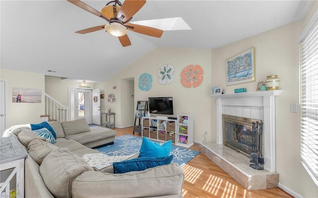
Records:
M108 156L103 153L89 153L84 154L82 158L88 163L89 166L101 170L107 166L113 165L114 162L120 162L128 159L138 157L139 152L131 155L120 155L120 156Z

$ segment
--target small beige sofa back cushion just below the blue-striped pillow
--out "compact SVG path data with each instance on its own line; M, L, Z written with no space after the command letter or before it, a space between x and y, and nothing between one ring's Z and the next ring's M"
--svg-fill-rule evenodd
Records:
M32 140L28 145L28 153L32 159L41 165L44 158L52 151L59 147L40 139Z

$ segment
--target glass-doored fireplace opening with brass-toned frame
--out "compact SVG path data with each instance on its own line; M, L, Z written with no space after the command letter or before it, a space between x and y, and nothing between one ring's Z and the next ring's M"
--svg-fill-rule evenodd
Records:
M223 115L223 144L246 157L251 153L262 156L259 124L262 128L260 120Z

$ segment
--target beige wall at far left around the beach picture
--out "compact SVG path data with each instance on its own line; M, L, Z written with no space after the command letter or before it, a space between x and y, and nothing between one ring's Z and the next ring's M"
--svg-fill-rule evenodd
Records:
M24 71L0 69L0 79L7 80L7 121L8 126L40 123L40 115L44 115L44 75ZM41 103L12 102L12 88L30 88L42 90Z

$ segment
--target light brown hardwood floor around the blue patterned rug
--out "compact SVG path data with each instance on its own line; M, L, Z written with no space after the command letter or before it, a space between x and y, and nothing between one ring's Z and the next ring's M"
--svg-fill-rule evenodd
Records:
M133 134L133 127L117 129L117 136ZM200 150L198 144L190 147ZM184 184L182 195L184 198L292 198L279 188L247 191L229 174L207 158L203 153L195 156L182 166Z

